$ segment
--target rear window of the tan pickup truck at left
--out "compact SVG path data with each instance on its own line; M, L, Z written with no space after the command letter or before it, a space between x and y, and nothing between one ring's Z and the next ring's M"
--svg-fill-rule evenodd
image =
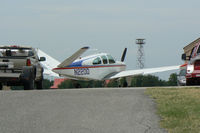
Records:
M0 48L0 57L29 57L33 56L32 49L6 49Z

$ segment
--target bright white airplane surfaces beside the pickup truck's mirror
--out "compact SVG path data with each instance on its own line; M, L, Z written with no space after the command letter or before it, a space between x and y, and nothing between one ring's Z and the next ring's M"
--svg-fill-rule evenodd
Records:
M38 49L38 56L45 57L46 61L42 61L41 64L44 67L44 74L52 77L59 77L59 75L52 71L53 68L56 68L60 62L54 59L53 57L49 56L42 50Z

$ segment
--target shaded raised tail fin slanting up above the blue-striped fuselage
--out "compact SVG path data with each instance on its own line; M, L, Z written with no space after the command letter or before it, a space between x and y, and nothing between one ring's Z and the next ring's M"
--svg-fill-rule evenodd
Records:
M83 47L83 48L79 49L77 52L75 52L72 56L70 56L69 58L64 60L57 67L64 67L64 66L68 66L68 65L72 64L73 61L75 61L78 57L80 57L88 49L89 49L89 47Z

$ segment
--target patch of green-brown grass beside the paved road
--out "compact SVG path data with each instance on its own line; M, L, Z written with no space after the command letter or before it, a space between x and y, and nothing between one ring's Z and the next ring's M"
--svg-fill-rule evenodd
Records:
M170 133L200 133L200 88L148 88L161 127Z

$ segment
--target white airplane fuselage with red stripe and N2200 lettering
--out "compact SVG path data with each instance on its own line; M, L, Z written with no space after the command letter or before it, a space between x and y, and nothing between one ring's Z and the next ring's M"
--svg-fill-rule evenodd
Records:
M109 54L102 53L75 60L71 65L54 68L53 71L75 79L105 80L106 76L125 69L125 63L115 61Z

